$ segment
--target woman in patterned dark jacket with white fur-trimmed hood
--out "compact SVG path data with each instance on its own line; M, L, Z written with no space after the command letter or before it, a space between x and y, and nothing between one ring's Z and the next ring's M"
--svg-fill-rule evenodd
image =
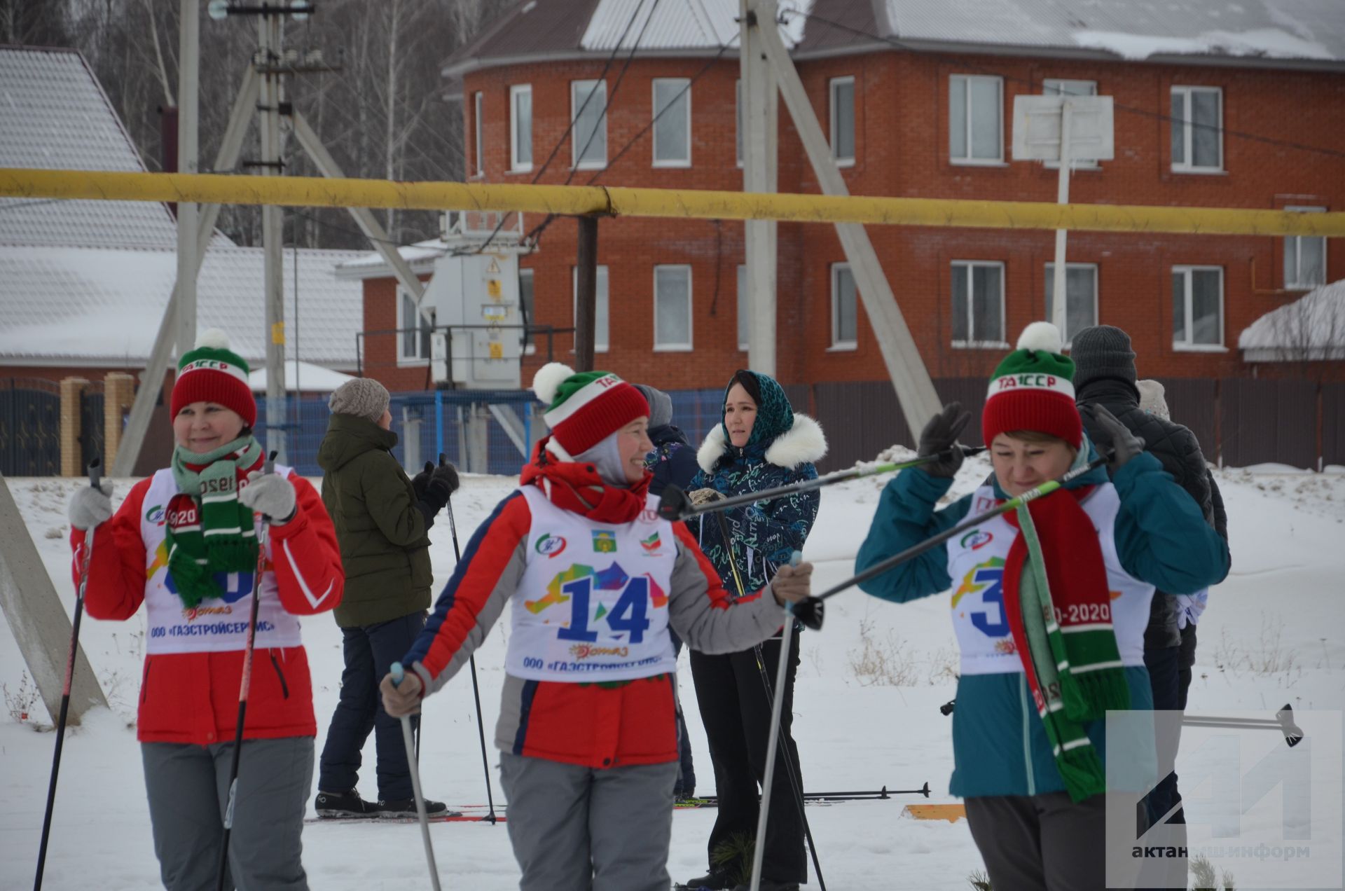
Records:
M724 394L724 423L714 427L697 452L701 470L689 498L703 503L729 495L784 486L818 475L814 462L826 455L826 437L811 417L796 415L772 378L737 371ZM687 522L705 556L730 591L755 591L790 563L818 517L816 490L787 498L706 514ZM729 541L721 534L724 518ZM760 649L710 655L691 650L691 677L701 720L710 743L714 787L720 798L707 847L709 874L687 882L690 888L736 888L751 872L751 849L734 844L756 833L771 732L771 688L780 660L780 635ZM791 735L794 678L799 668L799 638L790 641L788 672L781 694L780 751L775 760L773 794L767 818L761 867L763 891L791 891L807 882L803 816L795 783L803 790L799 751ZM792 767L792 778L791 778ZM740 856L732 856L736 851ZM725 861L724 853L729 853ZM742 863L744 859L746 863ZM741 884L746 891L746 884Z

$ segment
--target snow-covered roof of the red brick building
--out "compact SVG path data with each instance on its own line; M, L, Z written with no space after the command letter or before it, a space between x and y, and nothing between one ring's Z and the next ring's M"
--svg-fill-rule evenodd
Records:
M796 58L902 47L1345 66L1341 0L781 0L780 11ZM738 0L526 0L449 57L443 74L607 58L636 40L647 55L706 55L737 46L737 13Z

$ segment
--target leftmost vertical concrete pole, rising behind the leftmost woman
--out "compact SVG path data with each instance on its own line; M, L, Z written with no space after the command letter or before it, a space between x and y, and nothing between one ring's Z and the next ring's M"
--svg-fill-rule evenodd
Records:
M182 0L178 35L178 170L199 174L200 116L200 4ZM191 202L178 202L178 357L196 346L196 269L203 242L198 241L199 211ZM207 233L208 240L208 233ZM160 381L163 382L160 371ZM136 450L139 451L139 448Z

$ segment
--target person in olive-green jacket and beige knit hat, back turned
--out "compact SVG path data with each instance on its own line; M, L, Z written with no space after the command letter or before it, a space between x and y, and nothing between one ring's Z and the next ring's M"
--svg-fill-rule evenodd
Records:
M315 802L325 818L416 814L401 724L383 711L378 682L425 627L433 580L426 532L457 489L457 471L445 463L408 479L391 454L397 433L389 429L387 404L378 381L347 381L328 400L332 416L317 450L323 503L336 526L347 579L346 599L335 611L346 669ZM370 732L378 750L378 804L363 801L355 789ZM425 809L448 810L437 801L426 801Z

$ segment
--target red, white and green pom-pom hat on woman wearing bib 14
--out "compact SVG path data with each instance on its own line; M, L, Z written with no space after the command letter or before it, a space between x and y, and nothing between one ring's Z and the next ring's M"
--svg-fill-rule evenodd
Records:
M586 452L638 417L650 416L644 396L611 371L578 371L547 362L533 376L546 405L551 437L572 456Z

